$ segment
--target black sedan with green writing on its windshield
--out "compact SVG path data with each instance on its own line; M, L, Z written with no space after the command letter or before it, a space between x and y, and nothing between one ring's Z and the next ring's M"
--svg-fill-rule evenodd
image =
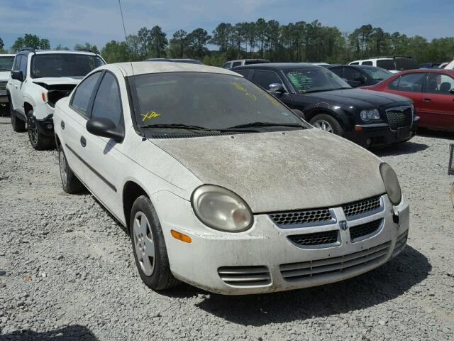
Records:
M416 132L411 99L353 89L325 67L307 63L270 63L233 68L252 80L317 128L363 146L408 141Z

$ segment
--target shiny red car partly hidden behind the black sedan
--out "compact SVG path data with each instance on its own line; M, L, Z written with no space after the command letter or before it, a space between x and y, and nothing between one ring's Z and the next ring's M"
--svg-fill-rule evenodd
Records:
M408 97L421 117L419 126L454 131L454 70L407 70L362 88Z

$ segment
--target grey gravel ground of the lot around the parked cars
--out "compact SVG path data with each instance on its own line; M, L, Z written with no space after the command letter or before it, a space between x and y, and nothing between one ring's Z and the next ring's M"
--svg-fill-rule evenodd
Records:
M0 340L454 340L454 135L376 153L411 204L409 246L328 286L228 297L141 283L128 235L89 194L62 192L55 151L0 119Z

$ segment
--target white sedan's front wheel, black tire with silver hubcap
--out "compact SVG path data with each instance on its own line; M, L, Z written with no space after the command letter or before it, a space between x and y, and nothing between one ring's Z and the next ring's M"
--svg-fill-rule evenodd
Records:
M141 195L133 203L130 235L135 265L149 288L160 291L176 286L165 247L161 224L148 197Z

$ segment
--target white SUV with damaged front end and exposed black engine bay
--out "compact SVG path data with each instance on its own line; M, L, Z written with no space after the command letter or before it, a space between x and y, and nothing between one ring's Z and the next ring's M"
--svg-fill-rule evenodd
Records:
M70 94L87 73L104 64L101 56L92 52L20 50L6 85L14 131L25 131L27 122L33 148L50 148L55 103Z

